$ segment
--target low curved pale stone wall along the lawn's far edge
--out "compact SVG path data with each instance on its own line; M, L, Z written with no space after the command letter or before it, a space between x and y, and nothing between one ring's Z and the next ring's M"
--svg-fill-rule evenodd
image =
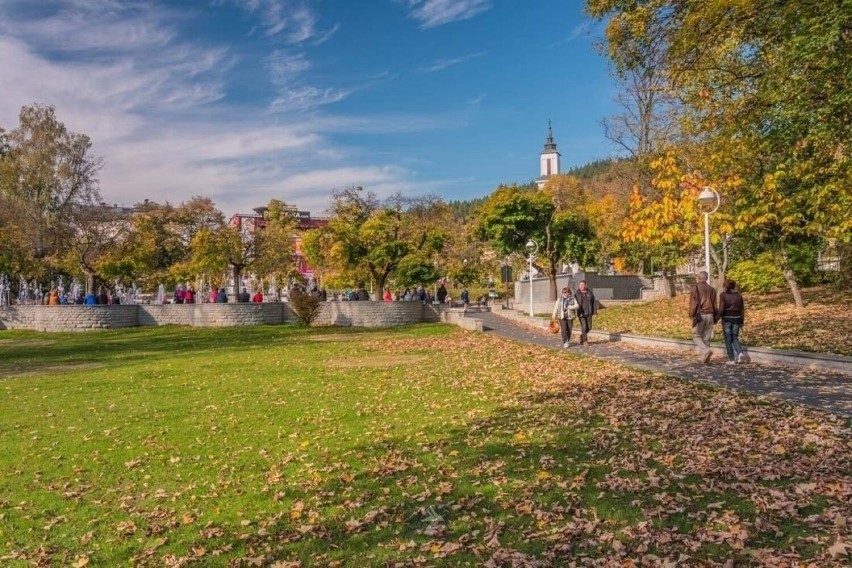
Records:
M441 306L420 302L324 302L314 325L386 327L445 321ZM286 303L126 306L4 306L0 329L86 331L154 325L232 327L294 323Z

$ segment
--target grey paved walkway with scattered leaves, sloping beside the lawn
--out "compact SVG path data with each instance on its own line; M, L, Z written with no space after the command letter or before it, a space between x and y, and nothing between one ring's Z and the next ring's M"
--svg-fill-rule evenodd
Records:
M533 329L489 312L468 313L482 321L483 331L499 337L563 349L558 335ZM576 333L572 340L579 341ZM572 344L572 352L618 361L640 369L701 383L721 385L758 395L773 396L852 417L852 376L780 364L747 363L726 365L714 357L704 365L694 353L680 350L631 346L621 342L594 340L588 347Z

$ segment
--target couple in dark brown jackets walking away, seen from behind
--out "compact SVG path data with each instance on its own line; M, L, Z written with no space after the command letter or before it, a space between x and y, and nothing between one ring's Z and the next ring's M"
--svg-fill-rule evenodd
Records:
M728 355L728 365L742 363L745 354L740 345L740 328L745 323L745 306L743 297L737 291L733 280L725 282L725 291L719 295L716 302L716 290L707 283L709 274L706 271L698 273L698 283L689 295L689 315L692 317L692 340L701 350L701 360L707 364L713 351L710 341L713 339L713 326L722 321L722 332L725 336L725 351Z

